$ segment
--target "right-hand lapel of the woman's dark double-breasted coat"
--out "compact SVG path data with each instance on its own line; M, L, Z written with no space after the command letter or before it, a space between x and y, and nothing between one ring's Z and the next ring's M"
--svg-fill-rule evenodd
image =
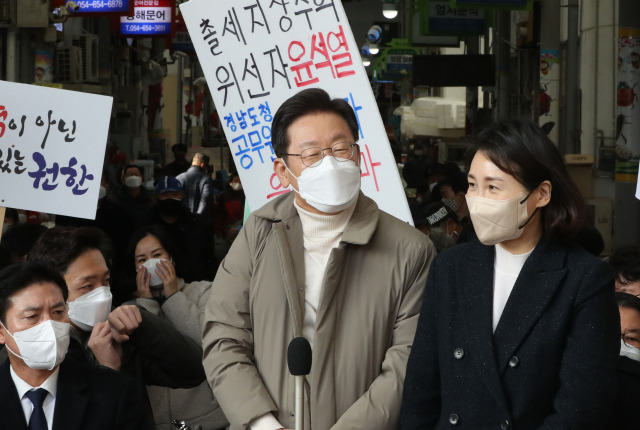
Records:
M562 284L565 259L566 250L543 239L522 267L494 333L501 373Z

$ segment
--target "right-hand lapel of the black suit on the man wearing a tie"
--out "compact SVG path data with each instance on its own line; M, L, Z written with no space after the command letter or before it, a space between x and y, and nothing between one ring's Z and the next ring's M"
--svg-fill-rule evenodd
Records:
M65 360L60 365L53 430L80 430L87 408L89 375L84 366Z

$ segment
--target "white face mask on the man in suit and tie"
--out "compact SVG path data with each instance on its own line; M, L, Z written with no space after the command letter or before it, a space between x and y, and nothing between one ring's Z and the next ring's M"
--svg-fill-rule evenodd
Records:
M5 346L10 353L21 358L30 368L52 370L62 363L67 354L70 339L69 328L69 323L47 320L12 335L4 327L5 333L15 340L22 355L16 354L8 345Z

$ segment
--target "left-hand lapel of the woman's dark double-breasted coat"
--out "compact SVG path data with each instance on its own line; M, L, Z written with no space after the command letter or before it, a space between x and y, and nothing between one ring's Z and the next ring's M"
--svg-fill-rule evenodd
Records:
M502 389L496 357L493 350L493 265L495 250L492 246L474 241L470 244L466 261L460 268L460 282L456 282L460 301L467 319L470 356L478 365L478 375L491 395L509 412Z

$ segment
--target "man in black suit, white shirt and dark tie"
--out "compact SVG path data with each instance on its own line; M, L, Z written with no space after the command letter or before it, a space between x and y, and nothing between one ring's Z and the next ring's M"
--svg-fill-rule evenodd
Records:
M65 360L66 296L64 279L44 263L0 272L0 344L9 352L0 366L2 428L150 429L133 379Z

